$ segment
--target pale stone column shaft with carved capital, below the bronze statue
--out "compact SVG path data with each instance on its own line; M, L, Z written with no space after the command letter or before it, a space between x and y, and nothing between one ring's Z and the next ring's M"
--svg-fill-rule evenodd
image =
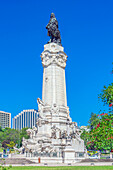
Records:
M64 48L56 43L46 44L41 59L43 65L42 101L45 105L43 112L48 118L50 118L49 113L52 113L53 121L54 118L55 121L57 119L58 121L67 120L69 110L65 82L67 55L64 53Z

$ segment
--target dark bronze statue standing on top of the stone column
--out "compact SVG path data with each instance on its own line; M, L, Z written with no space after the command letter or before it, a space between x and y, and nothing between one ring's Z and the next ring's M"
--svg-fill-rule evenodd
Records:
M47 24L46 29L48 30L48 36L50 36L50 40L48 43L54 42L58 45L61 45L60 31L58 30L58 21L55 18L54 13L51 13L50 21Z

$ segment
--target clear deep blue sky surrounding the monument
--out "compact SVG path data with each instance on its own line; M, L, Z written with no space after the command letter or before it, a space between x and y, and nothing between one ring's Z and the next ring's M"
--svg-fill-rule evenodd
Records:
M54 12L68 55L67 102L73 121L87 125L91 112L104 109L98 94L113 82L113 1L0 1L0 110L12 118L37 109L42 98L40 54L46 24Z

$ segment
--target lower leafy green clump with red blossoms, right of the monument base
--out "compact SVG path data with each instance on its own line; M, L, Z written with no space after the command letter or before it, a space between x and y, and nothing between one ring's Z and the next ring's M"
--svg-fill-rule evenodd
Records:
M81 138L87 149L110 151L113 149L113 114L98 115L98 122L89 132L84 131Z

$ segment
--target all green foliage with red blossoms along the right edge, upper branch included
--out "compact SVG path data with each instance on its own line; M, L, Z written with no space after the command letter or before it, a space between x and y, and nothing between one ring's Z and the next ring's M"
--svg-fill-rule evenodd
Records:
M113 73L113 70L112 70ZM99 98L109 105L109 114L91 114L89 120L90 131L84 131L81 138L85 141L87 149L111 150L113 149L113 83L104 86Z

